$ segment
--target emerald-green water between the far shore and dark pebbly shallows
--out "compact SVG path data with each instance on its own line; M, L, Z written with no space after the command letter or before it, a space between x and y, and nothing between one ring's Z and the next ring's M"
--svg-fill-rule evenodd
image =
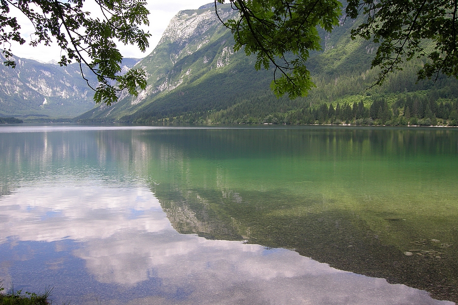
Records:
M148 175L177 193L208 199L230 217L340 211L398 247L410 235L451 241L457 136L437 129L175 131L150 139L166 147L167 157L151 162Z

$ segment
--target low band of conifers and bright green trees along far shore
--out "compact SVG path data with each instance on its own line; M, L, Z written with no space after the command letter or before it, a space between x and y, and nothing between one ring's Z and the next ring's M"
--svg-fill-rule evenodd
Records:
M284 112L281 108L292 108L292 105L276 105L272 103L272 97L258 98L249 105L240 103L218 112L185 114L174 119L183 123L457 126L458 101L440 97L433 100L435 95L438 95L437 90L388 96L354 96L323 103L318 107L304 105Z

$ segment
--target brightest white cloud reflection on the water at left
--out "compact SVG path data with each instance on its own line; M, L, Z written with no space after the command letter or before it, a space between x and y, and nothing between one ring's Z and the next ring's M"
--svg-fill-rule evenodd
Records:
M159 201L145 188L106 188L100 181L70 181L19 188L0 200L6 218L1 235L16 240L55 241L107 238L118 230L156 232L171 228ZM129 217L132 211L147 217ZM0 240L1 242L2 240Z

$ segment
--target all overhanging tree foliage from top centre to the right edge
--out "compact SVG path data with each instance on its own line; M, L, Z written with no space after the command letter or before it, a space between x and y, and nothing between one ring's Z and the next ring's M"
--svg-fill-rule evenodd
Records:
M224 3L225 0L215 0ZM305 96L313 86L306 68L309 51L321 49L317 28L331 32L339 22L363 15L352 31L378 46L372 66L379 66L380 83L402 63L427 58L418 79L439 73L458 76L456 0L349 0L345 11L337 0L230 0L236 19L222 22L230 28L235 49L256 54L255 68L273 65L276 95ZM344 13L345 12L345 13ZM279 75L280 77L277 77Z

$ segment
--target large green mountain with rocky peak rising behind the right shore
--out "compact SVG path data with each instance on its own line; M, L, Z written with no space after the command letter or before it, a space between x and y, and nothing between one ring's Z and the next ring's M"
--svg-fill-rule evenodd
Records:
M236 16L229 5L218 6L218 12L222 19ZM307 97L289 100L271 93L272 70L255 71L254 56L233 51L233 35L218 20L213 6L181 11L170 21L156 49L136 66L148 73L146 90L138 97L122 94L118 103L100 105L76 119L457 125L458 82L442 75L436 81L417 82L415 71L423 65L420 59L404 65L381 86L371 87L378 75L377 69L370 69L376 45L350 38L351 29L360 22L342 16L332 34L321 32L323 50L312 52L307 62L317 87Z

